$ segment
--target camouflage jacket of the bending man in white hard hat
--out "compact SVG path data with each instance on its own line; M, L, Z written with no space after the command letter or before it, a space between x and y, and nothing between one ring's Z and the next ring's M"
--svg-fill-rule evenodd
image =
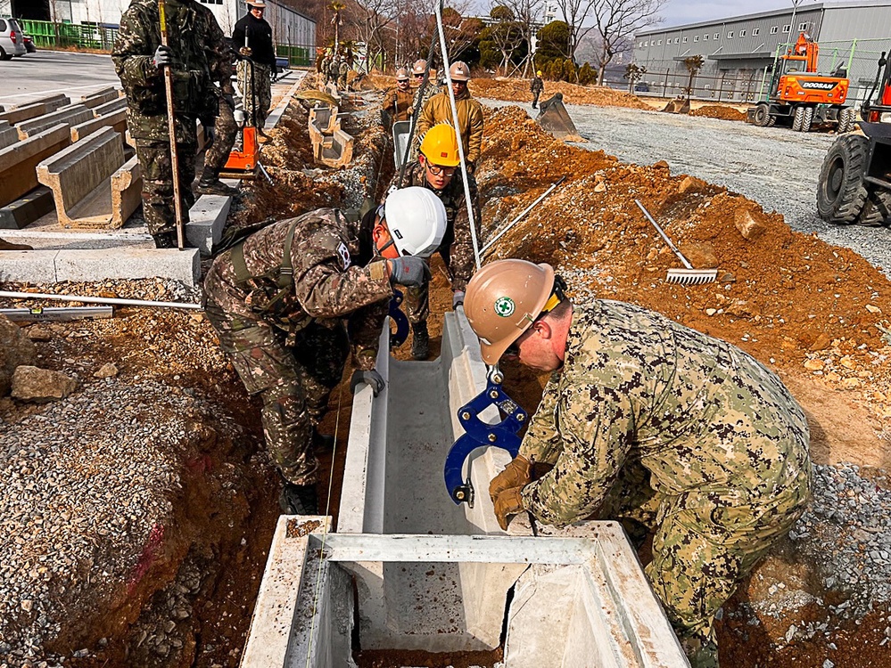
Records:
M239 280L230 248L210 267L207 297L236 327L264 321L285 336L313 319L347 318L356 363L371 369L392 288L386 261L373 255L367 222L350 223L336 209L320 208L268 225L242 244L252 278ZM293 282L282 294L277 280L292 225Z

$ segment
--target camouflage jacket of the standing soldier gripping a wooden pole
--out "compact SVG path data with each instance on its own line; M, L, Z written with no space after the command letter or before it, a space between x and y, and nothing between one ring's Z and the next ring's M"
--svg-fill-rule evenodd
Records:
M212 123L219 114L213 82L231 77L232 51L213 13L195 0L166 0L165 13L168 44L175 58L172 72L177 117L191 117L193 122L194 118L207 118ZM164 73L153 63L159 45L158 1L133 0L120 18L111 60L127 95L128 127L136 138L167 136ZM153 136L154 126L163 130L158 137Z

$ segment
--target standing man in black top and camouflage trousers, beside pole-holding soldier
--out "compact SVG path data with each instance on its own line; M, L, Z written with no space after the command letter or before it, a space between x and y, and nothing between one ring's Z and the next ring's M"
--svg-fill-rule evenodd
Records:
M244 97L246 122L263 132L272 105L272 76L276 73L276 47L272 26L263 18L266 0L246 0L248 12L235 23L232 43L242 60L238 61L238 87Z

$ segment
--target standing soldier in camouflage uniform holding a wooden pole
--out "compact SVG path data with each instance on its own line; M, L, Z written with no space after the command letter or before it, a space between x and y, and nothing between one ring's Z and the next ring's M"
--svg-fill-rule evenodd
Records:
M143 216L158 248L176 245L173 169L164 71L173 72L179 191L184 223L194 204L192 182L198 149L195 120L212 128L219 112L213 82L228 75L228 47L210 10L195 0L167 0L169 48L161 46L157 0L133 0L120 18L111 51L127 95L127 126L143 170Z

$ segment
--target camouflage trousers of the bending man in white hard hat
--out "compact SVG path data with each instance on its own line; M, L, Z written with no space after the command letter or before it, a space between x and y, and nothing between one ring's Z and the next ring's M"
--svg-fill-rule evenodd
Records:
M210 299L205 313L248 394L262 399L269 459L294 485L316 483L312 436L350 354L344 323L310 322L286 346L285 333L262 320L231 316Z

